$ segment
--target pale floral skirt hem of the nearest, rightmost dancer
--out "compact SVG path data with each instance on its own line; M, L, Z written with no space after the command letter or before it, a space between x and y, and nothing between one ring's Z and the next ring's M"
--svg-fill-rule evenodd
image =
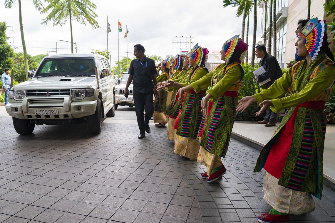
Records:
M276 211L301 215L314 211L315 202L309 192L294 191L278 185L278 179L265 172L263 200Z

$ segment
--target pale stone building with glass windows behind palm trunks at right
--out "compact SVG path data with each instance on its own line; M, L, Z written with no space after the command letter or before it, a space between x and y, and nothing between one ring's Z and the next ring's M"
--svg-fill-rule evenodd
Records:
M331 22L334 15L326 17L323 4L325 0L311 0L311 16L318 17L319 19L326 20L327 23ZM262 27L261 27L261 38L264 43L264 2L259 3L259 8L262 10ZM266 39L269 36L269 19L270 13L270 2L267 3L267 27L266 27ZM281 68L286 67L286 63L294 60L296 34L295 30L299 19L307 19L307 0L277 0L276 3L276 28L277 28L277 60ZM331 38L328 33L328 41ZM267 47L266 41L266 47ZM333 48L333 47L330 47ZM271 54L273 55L273 37L271 45Z

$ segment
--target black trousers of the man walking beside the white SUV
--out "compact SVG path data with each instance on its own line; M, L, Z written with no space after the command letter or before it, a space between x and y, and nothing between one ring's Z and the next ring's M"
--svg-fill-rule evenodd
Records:
M140 129L140 133L145 134L145 127L149 125L150 118L153 115L153 92L134 92L133 97L138 128Z

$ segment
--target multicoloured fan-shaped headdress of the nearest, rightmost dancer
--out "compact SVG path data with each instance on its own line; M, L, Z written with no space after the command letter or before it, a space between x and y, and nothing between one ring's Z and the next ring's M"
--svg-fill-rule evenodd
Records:
M310 19L304 28L298 33L305 38L304 44L307 51L314 61L321 50L323 44L323 37L327 31L327 24L325 20L318 20L318 18ZM327 43L326 43L327 44Z

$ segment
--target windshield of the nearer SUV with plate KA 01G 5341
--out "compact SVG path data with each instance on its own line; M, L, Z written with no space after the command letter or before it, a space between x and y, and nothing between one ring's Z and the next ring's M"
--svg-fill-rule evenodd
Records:
M94 59L87 58L63 58L46 59L34 77L46 76L95 76Z

